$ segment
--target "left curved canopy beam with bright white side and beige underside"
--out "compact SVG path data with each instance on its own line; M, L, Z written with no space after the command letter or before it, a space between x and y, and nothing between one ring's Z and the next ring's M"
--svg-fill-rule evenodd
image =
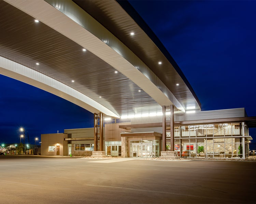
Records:
M91 113L102 112L105 115L119 118L118 115L110 111L108 108L102 106L100 103L94 101L88 96L85 96L70 86L67 86L51 77L46 76L45 74L20 65L1 56L0 74L48 91L56 96L59 96L87 109Z

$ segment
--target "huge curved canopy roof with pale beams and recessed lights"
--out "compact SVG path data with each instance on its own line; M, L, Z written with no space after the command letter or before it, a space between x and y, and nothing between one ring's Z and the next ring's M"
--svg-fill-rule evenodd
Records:
M200 110L167 50L129 3L119 3L0 1L0 74L112 117L171 104Z

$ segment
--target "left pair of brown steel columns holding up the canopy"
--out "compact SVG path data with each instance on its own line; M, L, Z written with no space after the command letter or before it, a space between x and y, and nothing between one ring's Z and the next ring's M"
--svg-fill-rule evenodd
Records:
M94 151L103 151L103 113L94 114Z

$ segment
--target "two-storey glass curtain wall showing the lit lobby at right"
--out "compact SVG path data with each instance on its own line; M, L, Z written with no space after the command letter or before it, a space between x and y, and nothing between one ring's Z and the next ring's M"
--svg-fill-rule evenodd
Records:
M244 136L248 135L245 128ZM174 127L175 151L180 157L243 158L242 123L184 125ZM245 152L248 152L248 139Z

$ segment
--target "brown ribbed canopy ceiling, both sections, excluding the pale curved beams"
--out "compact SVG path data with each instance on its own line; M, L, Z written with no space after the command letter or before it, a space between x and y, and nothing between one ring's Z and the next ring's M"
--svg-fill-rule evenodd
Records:
M116 1L75 2L139 56L184 107L200 109L190 85L186 85L153 41ZM119 29L115 32L116 27ZM35 23L34 17L5 1L0 1L0 29L0 56L74 88L119 116L161 111L161 106L124 74L90 51L82 51L81 45L53 28L42 22ZM125 38L131 29L136 32L133 41ZM166 60L161 70L150 66L158 62L158 56ZM179 89L176 83L180 84Z

